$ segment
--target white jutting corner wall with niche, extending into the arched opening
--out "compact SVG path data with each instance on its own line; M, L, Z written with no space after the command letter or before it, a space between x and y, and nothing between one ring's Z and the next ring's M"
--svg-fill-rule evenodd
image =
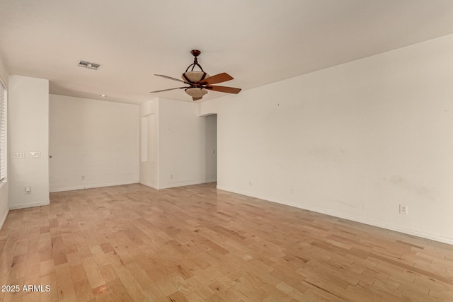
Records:
M142 184L164 189L216 180L216 117L198 117L198 110L197 103L166 98L142 105Z

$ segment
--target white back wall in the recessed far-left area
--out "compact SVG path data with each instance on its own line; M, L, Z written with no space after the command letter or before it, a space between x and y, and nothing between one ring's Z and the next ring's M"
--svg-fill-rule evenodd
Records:
M50 155L50 192L139 182L139 106L50 95Z

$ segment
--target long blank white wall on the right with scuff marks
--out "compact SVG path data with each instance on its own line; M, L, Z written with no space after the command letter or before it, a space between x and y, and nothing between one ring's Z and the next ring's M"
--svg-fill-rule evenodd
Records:
M217 187L453 243L452 49L448 35L201 103L218 113Z

